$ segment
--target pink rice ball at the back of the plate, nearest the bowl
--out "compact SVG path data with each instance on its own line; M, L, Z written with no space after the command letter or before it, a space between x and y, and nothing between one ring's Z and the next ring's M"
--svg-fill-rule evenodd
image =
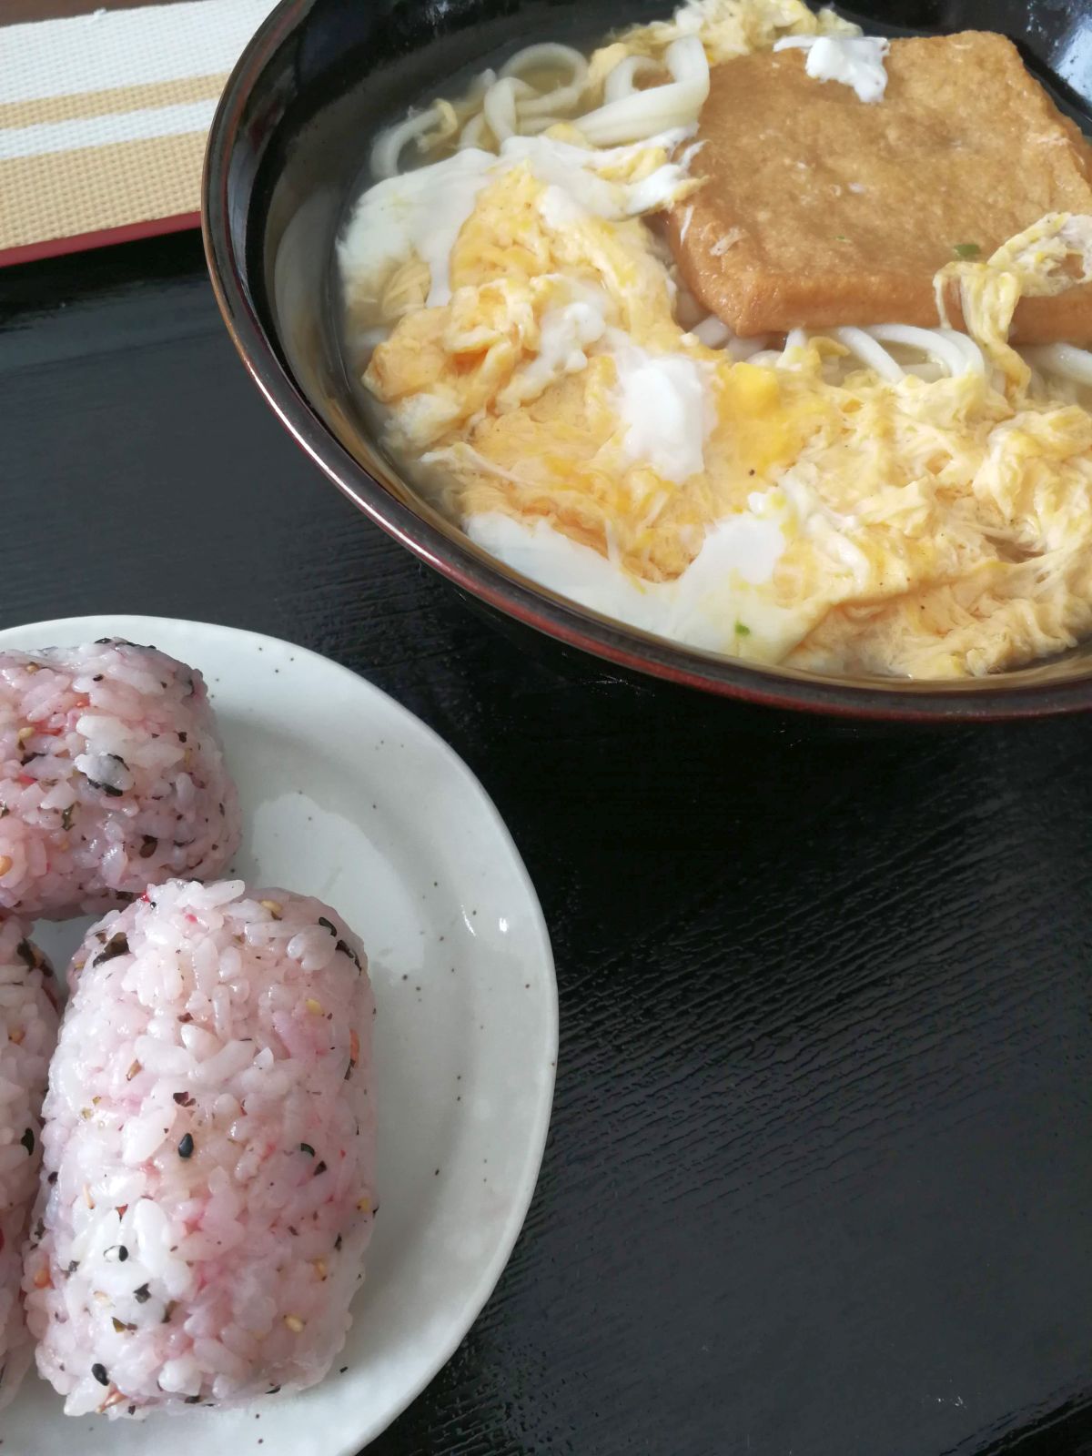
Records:
M199 673L119 639L0 652L0 913L102 913L237 847Z

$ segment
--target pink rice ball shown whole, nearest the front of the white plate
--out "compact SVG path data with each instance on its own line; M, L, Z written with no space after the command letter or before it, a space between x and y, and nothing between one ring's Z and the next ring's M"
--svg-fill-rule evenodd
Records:
M360 941L317 900L170 881L70 984L23 1278L41 1373L111 1417L320 1380L374 1207Z

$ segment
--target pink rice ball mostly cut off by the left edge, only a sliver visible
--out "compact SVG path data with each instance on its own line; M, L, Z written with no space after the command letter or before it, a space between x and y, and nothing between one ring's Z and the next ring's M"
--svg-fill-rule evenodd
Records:
M42 1160L42 1095L57 1041L50 965L17 920L0 916L0 1411L31 1363L19 1283Z

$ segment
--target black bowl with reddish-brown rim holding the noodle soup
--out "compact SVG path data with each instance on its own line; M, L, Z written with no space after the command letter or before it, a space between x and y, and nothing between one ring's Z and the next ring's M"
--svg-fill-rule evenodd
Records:
M1092 706L1092 646L967 683L827 678L684 648L577 607L508 571L421 499L370 437L333 333L332 248L371 134L482 57L530 39L587 44L671 0L282 0L224 90L208 141L204 236L227 328L258 387L365 515L508 623L609 671L849 719L1025 718ZM1092 0L875 0L871 31L1003 31L1083 124Z

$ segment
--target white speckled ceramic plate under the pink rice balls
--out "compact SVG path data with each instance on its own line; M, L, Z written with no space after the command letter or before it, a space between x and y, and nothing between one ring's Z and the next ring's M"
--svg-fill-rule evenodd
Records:
M527 1213L558 1050L542 910L470 770L347 668L272 638L159 617L13 628L0 648L108 635L205 674L243 802L239 874L319 895L364 939L380 1210L348 1344L313 1390L239 1412L70 1420L31 1374L0 1418L3 1452L349 1456L453 1354ZM63 965L86 925L41 922L35 939Z

